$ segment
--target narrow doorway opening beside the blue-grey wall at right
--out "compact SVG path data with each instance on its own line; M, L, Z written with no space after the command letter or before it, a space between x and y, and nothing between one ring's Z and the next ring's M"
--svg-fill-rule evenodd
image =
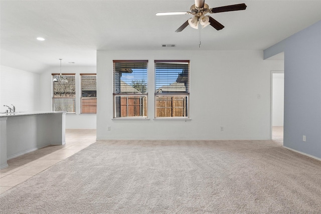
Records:
M284 71L271 71L271 139L283 145Z

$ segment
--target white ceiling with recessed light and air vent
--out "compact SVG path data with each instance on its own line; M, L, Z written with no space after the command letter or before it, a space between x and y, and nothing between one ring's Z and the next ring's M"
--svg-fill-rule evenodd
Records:
M321 1L213 1L210 8L245 3L245 11L211 14L225 26L176 33L193 0L0 1L1 65L31 72L63 62L96 64L96 50L264 50L321 20ZM202 45L199 48L199 35ZM43 42L37 37L44 37ZM163 48L162 44L175 44Z

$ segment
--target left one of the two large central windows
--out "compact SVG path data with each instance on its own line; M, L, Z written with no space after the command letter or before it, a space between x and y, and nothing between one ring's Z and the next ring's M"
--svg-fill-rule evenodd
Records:
M147 117L147 60L114 60L114 118Z

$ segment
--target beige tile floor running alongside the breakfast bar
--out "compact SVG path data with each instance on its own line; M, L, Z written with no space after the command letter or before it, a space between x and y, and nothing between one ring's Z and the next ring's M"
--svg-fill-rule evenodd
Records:
M0 194L96 141L96 129L66 129L66 144L47 146L8 160L0 169Z

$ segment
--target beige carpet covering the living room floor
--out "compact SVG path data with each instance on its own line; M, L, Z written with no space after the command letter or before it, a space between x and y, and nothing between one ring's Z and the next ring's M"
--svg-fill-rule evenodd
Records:
M275 141L98 141L0 213L321 213L321 161Z

